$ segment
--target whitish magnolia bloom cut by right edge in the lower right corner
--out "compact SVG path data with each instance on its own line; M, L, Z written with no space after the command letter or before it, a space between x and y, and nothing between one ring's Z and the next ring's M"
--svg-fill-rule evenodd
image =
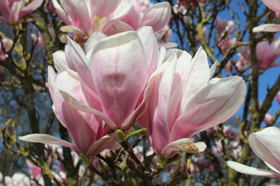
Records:
M261 131L251 133L249 136L251 149L275 172L249 167L233 161L227 161L228 166L243 174L280 178L279 140L280 129L277 127L267 127Z

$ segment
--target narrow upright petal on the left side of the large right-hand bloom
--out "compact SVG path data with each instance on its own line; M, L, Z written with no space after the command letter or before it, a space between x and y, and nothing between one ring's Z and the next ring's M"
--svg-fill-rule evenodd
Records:
M165 62L168 66L163 72L157 76L152 76L152 85L145 105L146 111L139 114L141 118L137 119L137 124L147 129L150 136L149 142L158 154L170 143L167 109L176 62L177 57L173 53L169 60Z

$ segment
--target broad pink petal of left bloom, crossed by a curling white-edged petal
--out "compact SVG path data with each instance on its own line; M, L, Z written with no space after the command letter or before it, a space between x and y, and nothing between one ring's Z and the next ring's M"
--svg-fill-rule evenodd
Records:
M54 82L71 93L80 102L102 111L100 102L86 90L76 72L63 68L56 75ZM50 83L50 86L52 86L52 83ZM101 118L73 108L63 99L58 89L53 89L50 94L56 116L67 128L74 145L85 154L103 132Z

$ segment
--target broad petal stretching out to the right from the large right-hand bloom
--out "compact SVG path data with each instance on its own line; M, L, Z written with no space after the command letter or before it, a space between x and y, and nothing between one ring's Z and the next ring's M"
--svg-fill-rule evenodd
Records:
M171 141L192 137L226 121L242 106L245 93L245 82L238 76L211 80L190 99L176 120L171 130Z

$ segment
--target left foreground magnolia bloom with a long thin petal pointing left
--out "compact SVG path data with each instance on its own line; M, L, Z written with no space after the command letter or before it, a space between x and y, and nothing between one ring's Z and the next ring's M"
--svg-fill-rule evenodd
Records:
M49 91L54 103L53 110L60 123L67 128L74 145L46 134L30 134L19 137L21 140L30 142L62 145L73 149L78 155L95 156L104 149L117 149L118 143L115 133L106 135L109 127L105 127L102 118L82 112L72 107L63 99L58 89L52 84L60 84L65 91L73 93L72 96L96 110L102 111L100 102L92 97L84 87L78 74L68 68L62 68L55 74L51 66L48 67ZM117 144L117 145L116 145Z

